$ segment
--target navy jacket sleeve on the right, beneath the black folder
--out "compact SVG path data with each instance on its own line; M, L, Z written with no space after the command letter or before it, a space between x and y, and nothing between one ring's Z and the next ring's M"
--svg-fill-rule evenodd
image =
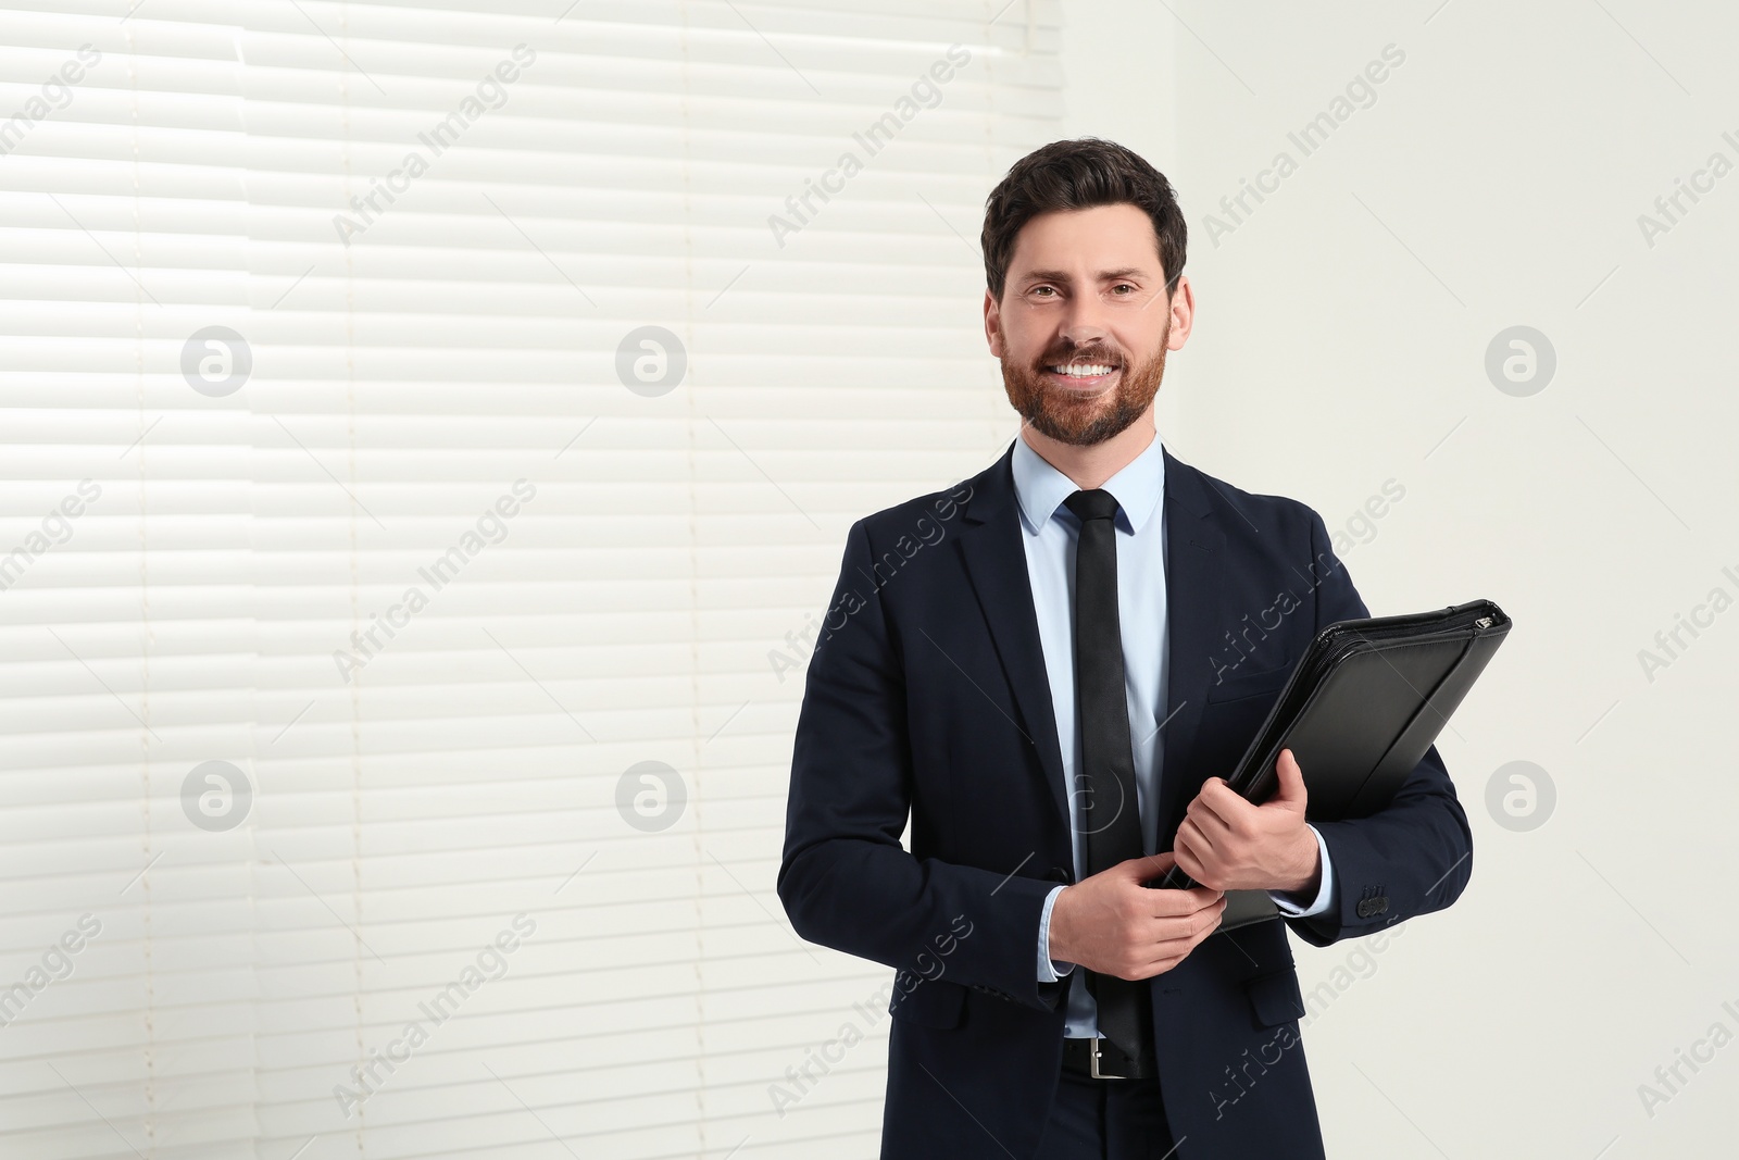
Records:
M1309 544L1316 630L1370 616L1315 511ZM1443 910L1461 897L1473 875L1473 831L1435 744L1395 800L1376 814L1313 824L1334 859L1334 899L1322 915L1287 920L1313 946Z

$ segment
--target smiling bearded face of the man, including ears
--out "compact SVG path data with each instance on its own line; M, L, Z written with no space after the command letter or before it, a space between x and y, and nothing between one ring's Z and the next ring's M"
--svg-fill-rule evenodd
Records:
M1136 205L1057 210L1028 221L984 334L1009 402L1061 443L1101 443L1148 414L1165 351L1189 337L1193 299L1167 297L1153 221Z

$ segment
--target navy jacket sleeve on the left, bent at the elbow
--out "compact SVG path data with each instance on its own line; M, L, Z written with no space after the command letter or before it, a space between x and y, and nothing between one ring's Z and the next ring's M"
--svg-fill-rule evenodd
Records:
M1056 882L901 847L913 777L904 659L866 579L873 558L859 520L803 687L779 899L810 943L1056 1010L1063 984L1033 970Z

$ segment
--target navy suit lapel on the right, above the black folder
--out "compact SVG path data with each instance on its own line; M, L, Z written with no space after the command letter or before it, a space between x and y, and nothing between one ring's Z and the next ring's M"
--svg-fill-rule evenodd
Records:
M1160 769L1160 849L1169 850L1183 821L1184 783L1191 797L1189 753L1202 725L1214 635L1221 631L1226 534L1219 527L1202 473L1165 456L1165 624L1167 647L1163 765Z

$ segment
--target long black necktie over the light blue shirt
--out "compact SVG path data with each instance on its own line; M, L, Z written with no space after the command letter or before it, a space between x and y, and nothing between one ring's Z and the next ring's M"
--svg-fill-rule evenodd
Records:
M1082 737L1075 800L1083 807L1078 824L1087 837L1087 873L1096 875L1144 854L1116 616L1116 497L1083 490L1063 504L1082 522L1075 546L1075 701ZM1099 1035L1130 1057L1144 1056L1153 1024L1146 979L1130 983L1089 970L1087 991L1099 1007Z

